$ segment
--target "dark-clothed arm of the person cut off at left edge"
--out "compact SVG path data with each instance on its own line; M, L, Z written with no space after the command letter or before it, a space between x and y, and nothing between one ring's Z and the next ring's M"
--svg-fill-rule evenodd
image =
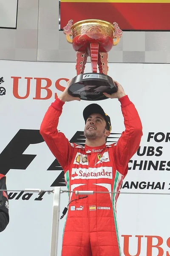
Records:
M0 190L6 190L6 176L0 174ZM0 232L6 229L9 223L8 195L6 191L0 191Z

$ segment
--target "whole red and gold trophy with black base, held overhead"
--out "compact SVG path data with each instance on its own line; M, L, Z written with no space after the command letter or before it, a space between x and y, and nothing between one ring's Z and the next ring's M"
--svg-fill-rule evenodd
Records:
M112 94L117 91L113 79L107 75L108 52L119 43L122 30L116 22L81 20L73 24L73 20L69 20L63 31L77 56L77 76L71 80L68 93L88 101L108 99L103 92ZM88 56L91 57L92 73L84 73Z

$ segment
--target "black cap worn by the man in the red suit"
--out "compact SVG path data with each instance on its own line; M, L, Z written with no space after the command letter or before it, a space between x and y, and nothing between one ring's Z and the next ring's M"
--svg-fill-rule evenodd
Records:
M101 116L104 117L105 121L106 121L106 124L107 124L107 127L108 127L108 131L111 131L111 119L110 117L105 113L105 111L102 109L102 107L100 107L98 104L96 103L93 103L93 104L90 104L88 105L84 111L83 111L83 117L85 119L85 123L88 119L88 117L91 115L91 114L94 114L94 113L98 113L100 114Z

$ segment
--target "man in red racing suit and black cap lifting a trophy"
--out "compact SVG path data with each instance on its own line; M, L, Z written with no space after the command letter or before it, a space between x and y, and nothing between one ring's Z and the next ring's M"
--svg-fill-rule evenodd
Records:
M142 124L122 86L114 82L117 92L104 94L121 102L125 131L117 143L105 144L111 132L111 120L97 104L83 111L85 148L69 143L65 135L57 131L64 103L80 100L68 94L68 87L48 108L41 124L40 133L64 170L68 190L73 191L69 194L62 256L121 255L116 219L118 193L115 192L119 192L128 162L139 148ZM83 196L75 195L75 190L113 193Z

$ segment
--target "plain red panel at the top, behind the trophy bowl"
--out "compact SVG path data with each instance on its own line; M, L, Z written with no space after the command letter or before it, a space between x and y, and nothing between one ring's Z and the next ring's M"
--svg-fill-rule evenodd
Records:
M117 22L122 30L170 30L170 3L61 2L61 29L68 20Z

